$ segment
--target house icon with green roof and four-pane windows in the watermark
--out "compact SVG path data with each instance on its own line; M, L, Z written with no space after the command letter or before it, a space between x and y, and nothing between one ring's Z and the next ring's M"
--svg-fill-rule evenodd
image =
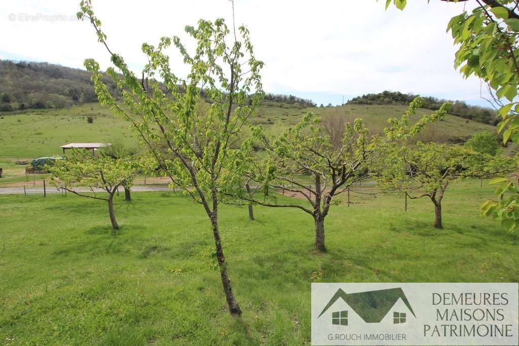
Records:
M393 324L406 323L407 312L410 312L416 317L402 288L370 290L351 294L347 294L344 290L339 288L326 304L318 318L330 309L338 299L342 299L365 323L380 323L384 317L393 310L399 299L402 300L408 311L393 311ZM332 312L331 323L347 326L348 310Z

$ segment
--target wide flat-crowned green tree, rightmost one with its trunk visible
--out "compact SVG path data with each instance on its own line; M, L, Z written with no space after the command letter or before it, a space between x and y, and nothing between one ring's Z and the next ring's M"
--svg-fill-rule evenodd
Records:
M443 228L442 200L451 182L488 177L511 167L510 160L459 145L403 144L389 147L381 156L374 168L377 182L386 192L403 192L411 199L428 197L434 204L435 228Z

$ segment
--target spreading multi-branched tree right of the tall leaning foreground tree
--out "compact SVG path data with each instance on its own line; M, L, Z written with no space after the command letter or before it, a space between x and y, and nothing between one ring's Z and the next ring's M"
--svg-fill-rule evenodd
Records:
M270 207L294 207L311 215L315 225L314 249L325 251L324 220L330 207L340 203L337 197L353 183L371 176L368 165L379 155L381 148L418 133L427 123L440 119L448 109L448 104L445 104L409 127L408 117L420 105L421 100L416 98L400 120L390 119L390 126L383 139L376 135L370 136L362 119L356 119L354 123L345 123L344 132L340 136L342 141L338 145L336 135L322 126L321 119L312 113L304 116L301 122L289 128L278 139L258 131L269 157L264 164L250 172L249 177L260 184L258 186L263 188L264 194L270 187L288 190L304 197L310 207L299 203L279 203L272 198L260 200L254 193L248 193L242 198ZM310 175L313 185L298 179L305 174Z

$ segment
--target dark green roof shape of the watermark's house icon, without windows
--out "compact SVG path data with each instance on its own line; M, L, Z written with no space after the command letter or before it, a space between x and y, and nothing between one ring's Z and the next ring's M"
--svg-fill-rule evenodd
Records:
M347 294L339 288L318 317L321 317L339 298L343 299L366 323L380 323L399 299L402 299L405 306L416 317L411 304L409 304L404 291L400 287L351 294Z

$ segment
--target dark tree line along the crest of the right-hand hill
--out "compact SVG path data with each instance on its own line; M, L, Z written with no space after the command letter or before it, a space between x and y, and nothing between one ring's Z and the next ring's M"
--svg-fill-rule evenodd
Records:
M387 105L387 104L399 104L406 105L412 102L417 95L407 93L404 94L400 91L383 91L378 94L364 94L357 96L347 102L347 104L361 104L361 105ZM450 114L456 115L461 118L470 119L474 121L483 122L496 126L499 122L495 110L480 106L468 105L465 101L449 101L444 99L437 99L431 96L422 96L423 100L422 108L438 110L445 102L452 103Z

